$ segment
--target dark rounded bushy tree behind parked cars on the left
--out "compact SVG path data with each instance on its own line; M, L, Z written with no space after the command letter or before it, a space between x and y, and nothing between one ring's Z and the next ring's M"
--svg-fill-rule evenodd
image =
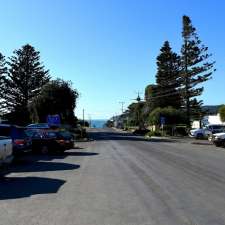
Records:
M46 122L47 115L59 114L63 123L75 125L78 93L72 83L61 79L45 84L29 104L33 122Z

